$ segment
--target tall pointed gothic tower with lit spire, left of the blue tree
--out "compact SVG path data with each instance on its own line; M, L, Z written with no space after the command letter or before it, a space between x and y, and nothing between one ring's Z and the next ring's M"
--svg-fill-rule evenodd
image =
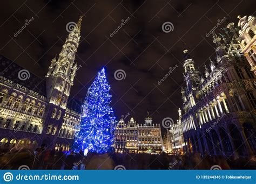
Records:
M82 17L66 38L58 58L52 59L48 73L45 75L46 95L49 102L43 130L45 144L57 138L63 122L70 89L77 71L77 63L74 61L80 40L81 23Z

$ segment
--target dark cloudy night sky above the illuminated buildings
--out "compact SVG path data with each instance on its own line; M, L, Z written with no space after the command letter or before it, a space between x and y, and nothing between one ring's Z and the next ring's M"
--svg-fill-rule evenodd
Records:
M251 8L253 7L253 8ZM75 77L71 96L84 99L98 71L105 66L111 85L115 115L131 114L142 123L150 111L155 123L165 117L174 122L182 106L183 50L204 71L209 57L214 59L212 36L206 34L226 17L220 26L237 16L255 16L255 0L247 1L2 1L0 17L0 54L44 77L51 59L61 51L68 36L66 24L83 15L80 45L76 54L82 67ZM19 33L26 19L34 20ZM110 34L130 20L112 37ZM174 30L165 33L162 25L171 22ZM216 32L220 32L217 29ZM160 81L170 67L178 66ZM122 69L124 80L114 72Z

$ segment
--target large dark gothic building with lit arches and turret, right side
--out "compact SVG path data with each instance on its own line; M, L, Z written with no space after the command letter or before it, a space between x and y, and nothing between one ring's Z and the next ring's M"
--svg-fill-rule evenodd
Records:
M216 58L202 74L185 50L181 128L185 152L234 158L256 152L255 75L241 55L238 27L213 32Z

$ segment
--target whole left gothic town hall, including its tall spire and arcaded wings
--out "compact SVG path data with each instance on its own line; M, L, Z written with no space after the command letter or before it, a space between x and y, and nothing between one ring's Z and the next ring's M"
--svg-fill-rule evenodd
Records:
M74 62L80 39L80 18L44 79L0 56L0 141L63 147L68 151L80 123L80 102L70 97L77 72Z

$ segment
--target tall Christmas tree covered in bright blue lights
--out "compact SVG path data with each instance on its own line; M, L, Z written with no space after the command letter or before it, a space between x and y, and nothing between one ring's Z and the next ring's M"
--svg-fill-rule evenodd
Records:
M106 153L113 144L116 117L110 107L110 85L103 68L88 89L84 104L79 131L76 133L73 148L76 152Z

